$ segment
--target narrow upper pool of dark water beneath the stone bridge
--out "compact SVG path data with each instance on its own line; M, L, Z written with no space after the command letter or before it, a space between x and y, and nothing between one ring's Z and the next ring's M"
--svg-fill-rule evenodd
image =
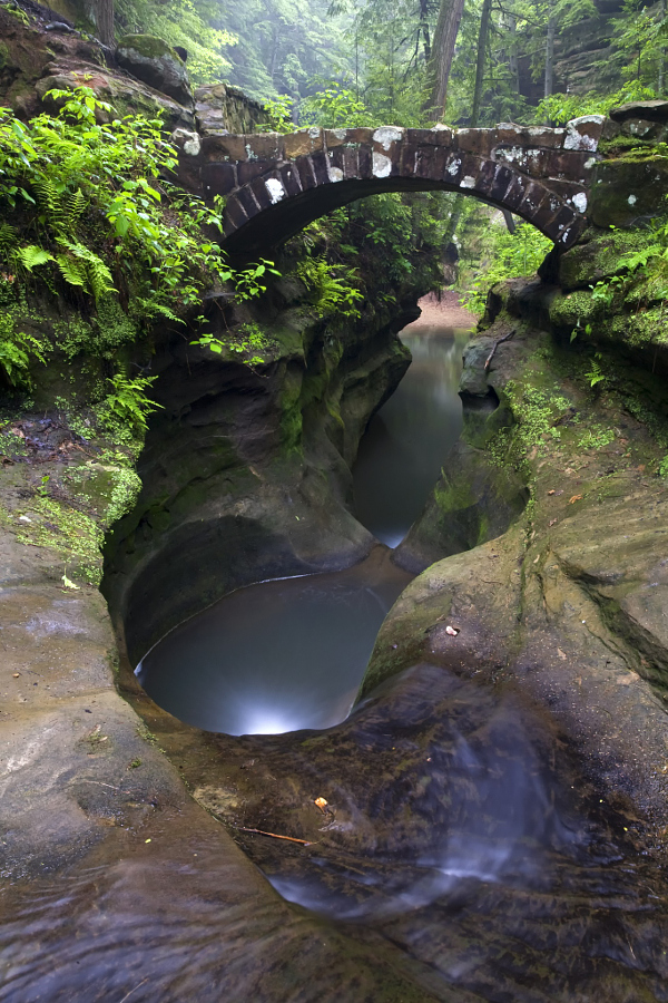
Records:
M443 327L401 332L413 361L370 421L353 470L357 518L389 547L402 542L420 515L461 432L458 387L470 335Z

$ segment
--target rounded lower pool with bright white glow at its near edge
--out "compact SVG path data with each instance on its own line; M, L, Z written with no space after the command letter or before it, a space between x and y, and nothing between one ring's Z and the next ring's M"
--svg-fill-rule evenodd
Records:
M156 703L207 731L328 728L350 712L410 581L379 547L344 572L239 588L171 631L136 673Z

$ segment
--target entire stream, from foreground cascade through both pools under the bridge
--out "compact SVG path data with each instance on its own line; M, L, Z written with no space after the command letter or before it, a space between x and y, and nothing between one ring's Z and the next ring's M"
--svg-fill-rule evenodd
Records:
M220 859L206 816L188 829L168 808L153 843L111 829L117 856L104 844L7 889L0 1001L668 1001L660 857L582 780L544 709L431 664L354 705L412 577L391 548L460 432L465 339L402 333L413 363L354 470L383 546L344 572L240 588L137 668L161 708L209 732L199 782L236 791L256 884ZM323 792L312 843L238 828L295 831Z

